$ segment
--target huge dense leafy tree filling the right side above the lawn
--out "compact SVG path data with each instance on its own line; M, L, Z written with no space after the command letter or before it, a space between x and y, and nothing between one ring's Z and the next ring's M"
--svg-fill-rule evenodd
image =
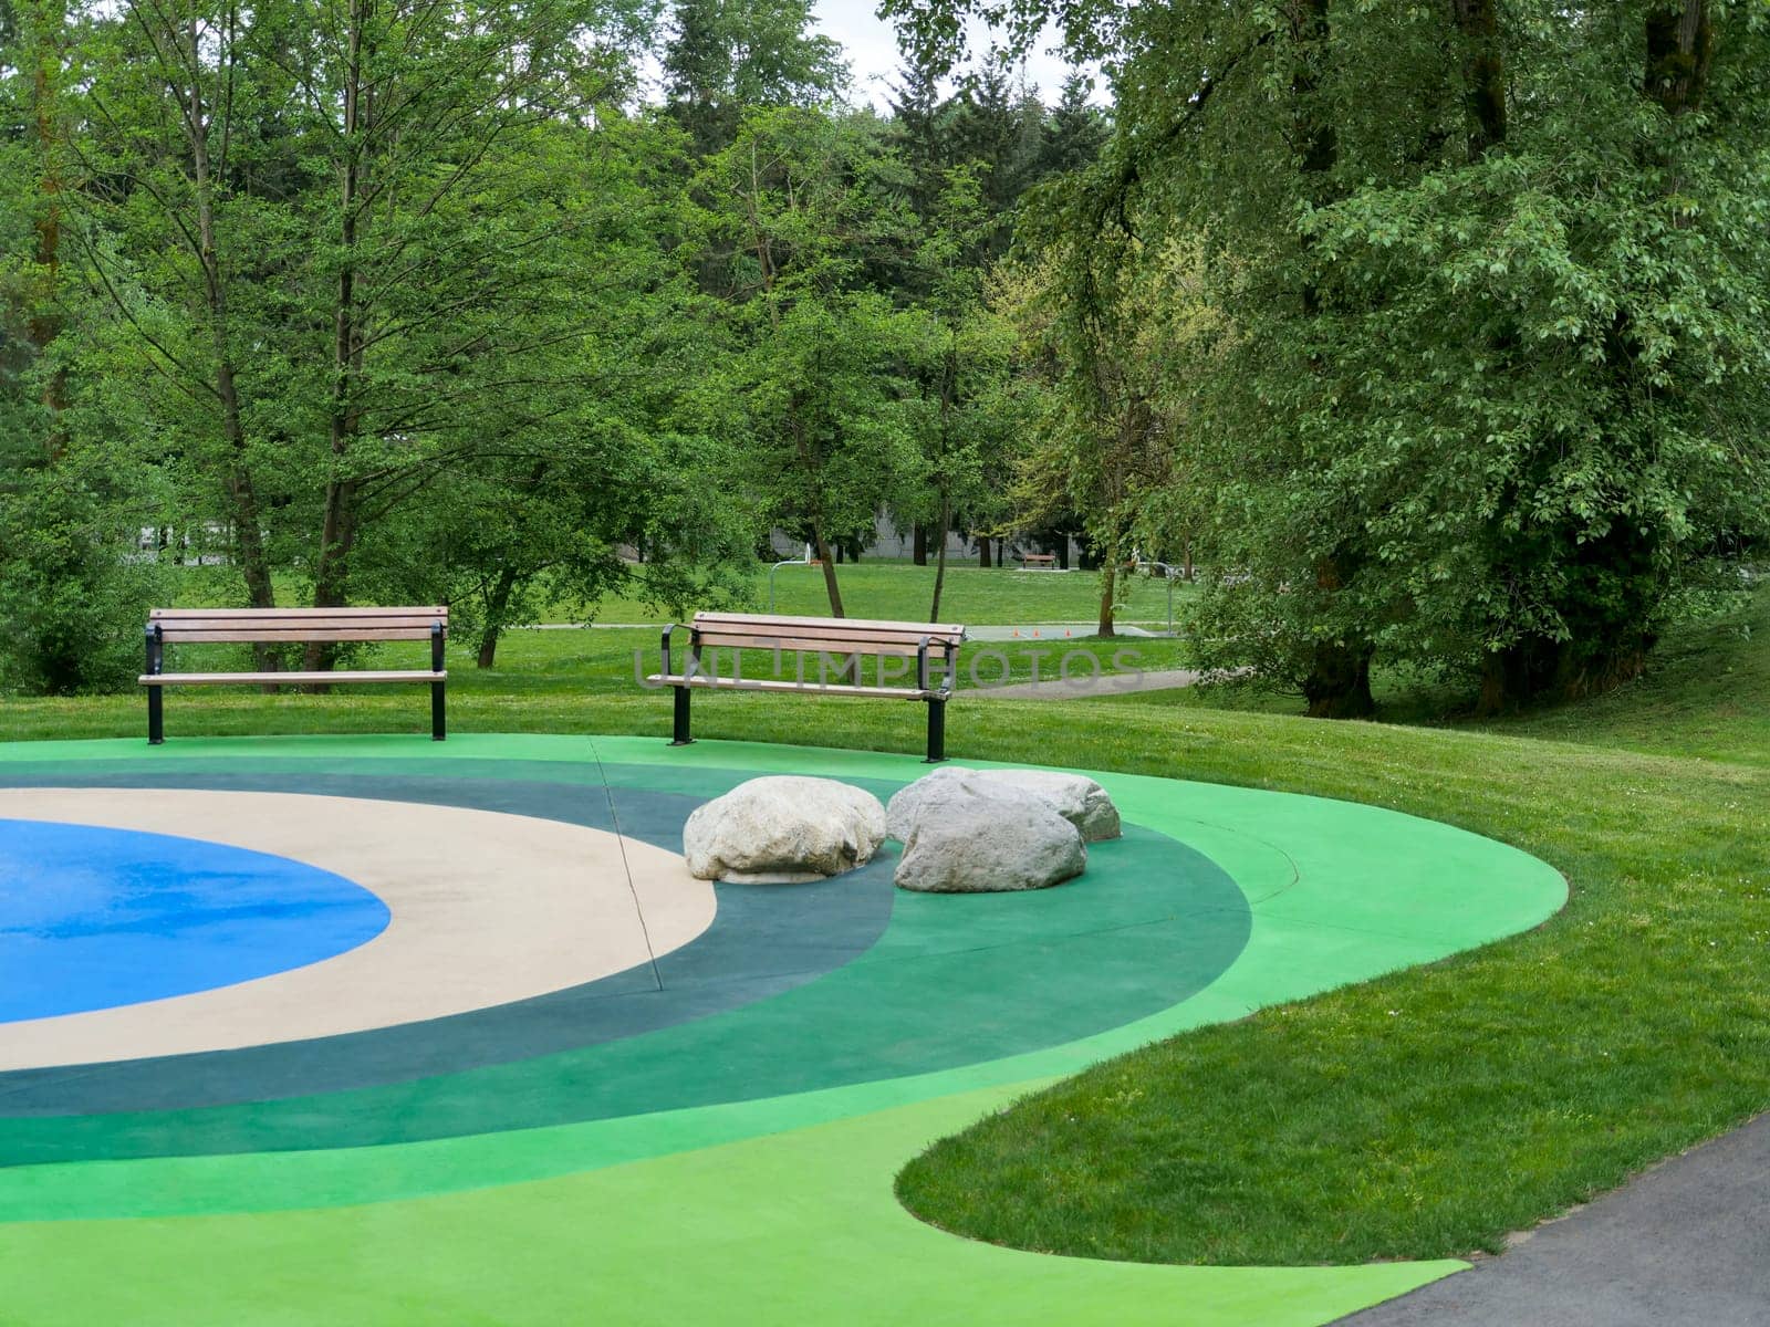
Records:
M970 9L889 7L936 46ZM1069 223L1205 246L1223 370L1174 368L1220 662L1319 715L1366 713L1375 658L1489 708L1634 676L1719 531L1763 527L1761 16L1110 9L1066 7L1122 55Z

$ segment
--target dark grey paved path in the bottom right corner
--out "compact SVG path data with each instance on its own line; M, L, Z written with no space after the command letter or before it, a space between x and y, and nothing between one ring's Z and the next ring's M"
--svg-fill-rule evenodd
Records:
M1763 1327L1770 1115L1342 1327Z

